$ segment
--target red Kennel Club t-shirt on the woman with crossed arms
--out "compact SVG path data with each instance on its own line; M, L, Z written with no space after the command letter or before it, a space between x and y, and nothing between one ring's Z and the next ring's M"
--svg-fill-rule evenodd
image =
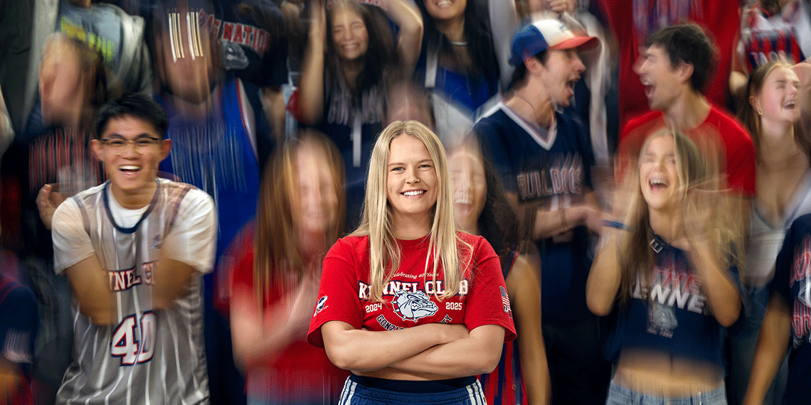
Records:
M434 294L444 292L442 273L434 282L431 268L425 268L428 237L397 241L400 267L384 288L383 303L369 299L369 237L339 239L324 258L319 301L307 340L324 346L321 326L329 321L378 331L438 322L462 324L468 330L499 325L505 329L504 342L515 339L499 257L483 237L463 232L457 235L472 246L472 255L466 255L471 258L470 266L465 266L459 293L444 301Z

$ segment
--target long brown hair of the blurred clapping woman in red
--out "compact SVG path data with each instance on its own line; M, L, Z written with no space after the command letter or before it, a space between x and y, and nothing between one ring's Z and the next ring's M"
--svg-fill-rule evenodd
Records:
M260 306L272 296L274 288L290 288L298 283L305 271L306 263L301 255L294 220L294 204L298 204L296 160L297 152L303 147L322 151L324 165L332 173L334 190L338 194L336 220L324 232L324 251L344 231L346 203L341 152L324 134L304 131L298 139L290 139L277 149L264 169L254 239L254 286Z

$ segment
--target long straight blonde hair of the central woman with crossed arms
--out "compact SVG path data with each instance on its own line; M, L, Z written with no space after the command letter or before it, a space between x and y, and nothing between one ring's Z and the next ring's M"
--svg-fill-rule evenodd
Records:
M401 254L394 237L391 206L386 194L386 167L392 140L403 134L419 139L434 161L438 193L428 244L428 258L432 256L433 261L429 263L429 260L426 260L425 269L427 273L430 264L432 278L436 281L441 264L445 282L445 291L439 296L441 300L459 292L463 276L461 257L470 258L471 247L457 237L453 220L453 187L450 185L448 175L448 156L440 139L427 126L416 121L396 121L380 133L369 160L363 219L352 235L369 237L370 299L383 301L384 287L399 268Z

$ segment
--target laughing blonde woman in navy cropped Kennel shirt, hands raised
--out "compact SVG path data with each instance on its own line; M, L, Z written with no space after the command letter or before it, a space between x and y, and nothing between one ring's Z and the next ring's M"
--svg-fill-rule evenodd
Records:
M683 134L651 134L637 161L586 284L591 311L616 313L607 404L725 404L723 330L741 306L736 210Z

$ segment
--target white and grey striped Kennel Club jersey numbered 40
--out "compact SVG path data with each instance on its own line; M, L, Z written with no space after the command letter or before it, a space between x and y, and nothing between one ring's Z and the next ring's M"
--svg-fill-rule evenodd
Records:
M208 403L200 273L212 270L216 219L212 199L194 186L158 180L152 202L122 228L109 182L68 198L54 213L54 266L60 274L97 255L114 291L117 320L98 326L73 300L71 366L60 404ZM152 308L152 271L161 250L193 266L188 291L169 309Z

